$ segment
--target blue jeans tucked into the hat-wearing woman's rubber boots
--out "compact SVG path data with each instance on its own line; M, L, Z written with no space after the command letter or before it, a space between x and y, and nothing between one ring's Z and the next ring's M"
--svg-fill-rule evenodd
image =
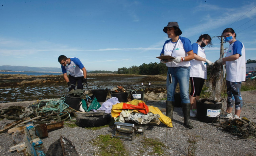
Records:
M169 73L171 73L172 83L169 83ZM188 86L189 86L189 67L168 67L166 88L167 101L174 101L176 86L179 83L181 103L190 103Z

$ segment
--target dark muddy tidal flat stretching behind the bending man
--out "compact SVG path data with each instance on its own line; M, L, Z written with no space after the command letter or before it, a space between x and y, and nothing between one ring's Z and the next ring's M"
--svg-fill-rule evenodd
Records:
M162 93L166 91L166 76L126 75L126 74L88 74L88 88L109 90L116 86L136 90L144 83L148 91ZM68 93L63 75L23 75L0 74L0 103L60 98ZM148 87L148 83L152 85ZM110 94L110 93L109 93Z

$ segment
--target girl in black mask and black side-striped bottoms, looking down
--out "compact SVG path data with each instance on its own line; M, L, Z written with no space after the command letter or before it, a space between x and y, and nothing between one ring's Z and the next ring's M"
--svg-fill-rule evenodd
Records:
M190 61L190 84L191 92L189 99L191 103L190 117L196 117L196 100L199 99L202 91L205 79L207 79L207 65L213 65L213 63L206 59L205 47L210 46L212 38L208 34L201 35L196 43L192 44L194 59Z

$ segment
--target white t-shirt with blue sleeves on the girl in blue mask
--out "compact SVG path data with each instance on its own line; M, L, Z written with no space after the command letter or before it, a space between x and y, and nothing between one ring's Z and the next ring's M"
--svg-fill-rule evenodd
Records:
M226 57L235 54L239 54L240 57L233 61L226 61L226 80L230 82L242 82L245 81L246 77L245 46L238 40L229 45Z

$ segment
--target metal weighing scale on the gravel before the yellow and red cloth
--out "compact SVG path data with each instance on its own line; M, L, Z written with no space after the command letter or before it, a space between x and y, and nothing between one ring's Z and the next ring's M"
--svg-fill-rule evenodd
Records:
M115 122L114 123L116 132L112 136L119 137L123 139L133 140L135 132L144 133L144 131L148 128L147 125L135 125L132 123L122 123Z

